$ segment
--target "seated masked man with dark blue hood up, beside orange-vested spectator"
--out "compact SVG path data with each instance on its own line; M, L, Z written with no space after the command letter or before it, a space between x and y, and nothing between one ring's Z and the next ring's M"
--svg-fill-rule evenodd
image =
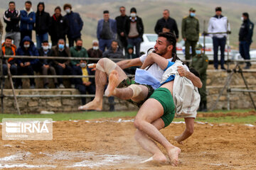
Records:
M16 55L21 56L38 56L38 50L36 49L33 41L28 36L24 37L21 41L21 46L18 47ZM22 58L16 60L17 67L18 67L18 75L28 74L34 75L34 69L37 68L38 59L29 59L29 58ZM30 79L30 88L35 89L36 83L35 79ZM21 79L16 80L16 86L18 89L22 88Z

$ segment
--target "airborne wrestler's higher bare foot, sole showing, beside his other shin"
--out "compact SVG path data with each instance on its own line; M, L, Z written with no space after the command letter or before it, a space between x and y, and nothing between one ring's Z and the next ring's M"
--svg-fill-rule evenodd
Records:
M105 96L114 96L115 89L118 86L118 73L117 70L113 70L109 77L109 84L107 85L107 89L105 90Z

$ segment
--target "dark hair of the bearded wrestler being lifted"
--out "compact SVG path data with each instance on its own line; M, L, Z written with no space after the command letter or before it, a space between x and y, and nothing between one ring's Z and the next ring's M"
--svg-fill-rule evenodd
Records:
M174 35L174 33L159 33L159 37L166 38L166 41L169 43L169 45L173 46L173 50L171 52L173 60L171 61L175 62L176 60L180 60L176 54L176 35Z

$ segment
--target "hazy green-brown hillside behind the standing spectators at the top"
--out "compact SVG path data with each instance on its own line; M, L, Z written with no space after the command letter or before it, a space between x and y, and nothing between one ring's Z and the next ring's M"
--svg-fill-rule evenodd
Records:
M1 7L0 12L4 13L6 8L8 8L8 2L0 0ZM33 10L36 11L36 6L38 0L32 1ZM46 11L53 14L55 6L63 6L65 3L70 3L70 1L44 1L46 4ZM223 15L228 16L230 21L230 26L232 30L232 35L230 36L230 44L234 48L238 47L238 31L240 29L240 20L242 12L248 12L250 14L251 21L255 23L256 16L256 1L253 0L227 0L227 1L210 1L210 0L73 0L73 11L79 12L82 20L84 21L84 27L82 30L83 39L85 40L85 46L90 47L90 42L96 36L97 21L102 18L102 11L108 9L110 11L111 18L115 18L119 15L119 6L126 6L127 14L129 14L129 9L131 7L137 8L137 13L144 22L145 33L154 33L154 26L157 19L161 18L161 13L164 8L168 8L171 13L171 17L176 19L178 23L178 28L181 30L181 20L184 16L188 15L188 8L196 8L196 17L200 21L200 29L203 32L203 23L206 21L205 28L207 29L208 20L210 16L215 14L215 7L222 6ZM6 6L6 8L4 8ZM23 1L16 2L16 8L23 8ZM245 10L246 9L246 10ZM65 14L63 12L63 14ZM2 21L2 19L1 19ZM181 31L180 31L181 32ZM180 34L181 37L181 34ZM253 38L256 41L256 37ZM252 44L252 47L256 47L256 43Z

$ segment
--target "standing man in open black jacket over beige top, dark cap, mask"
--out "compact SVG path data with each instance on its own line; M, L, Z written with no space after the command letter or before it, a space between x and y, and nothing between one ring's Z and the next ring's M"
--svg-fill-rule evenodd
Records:
M130 13L131 16L129 16L129 19L125 24L125 33L128 37L128 45L135 46L136 55L139 57L140 44L143 41L142 36L144 33L144 26L142 23L142 18L137 16L136 8L131 8Z

